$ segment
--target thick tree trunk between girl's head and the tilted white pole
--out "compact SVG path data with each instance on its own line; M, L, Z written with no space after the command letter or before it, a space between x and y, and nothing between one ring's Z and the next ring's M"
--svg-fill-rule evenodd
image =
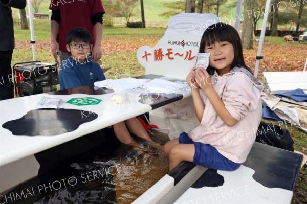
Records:
M255 2L253 0L244 1L244 20L242 29L242 46L243 49L253 49L253 23L254 16L249 17L248 11L253 10L255 7Z

